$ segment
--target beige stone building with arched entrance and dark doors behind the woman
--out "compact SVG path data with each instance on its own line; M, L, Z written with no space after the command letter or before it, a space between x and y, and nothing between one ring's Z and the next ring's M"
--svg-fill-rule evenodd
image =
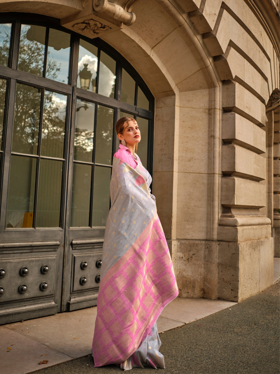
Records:
M279 257L279 0L0 0L0 322L96 305L129 114L181 297Z

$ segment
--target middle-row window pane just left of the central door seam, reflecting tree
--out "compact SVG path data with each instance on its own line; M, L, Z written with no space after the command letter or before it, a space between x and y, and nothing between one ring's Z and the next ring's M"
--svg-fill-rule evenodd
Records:
M67 96L45 91L41 155L63 158Z

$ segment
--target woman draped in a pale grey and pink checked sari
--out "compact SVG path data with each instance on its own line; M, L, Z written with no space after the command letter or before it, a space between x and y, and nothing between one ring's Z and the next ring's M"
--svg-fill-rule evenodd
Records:
M178 295L178 288L155 197L150 194L152 178L135 153L141 140L136 120L119 119L116 132L121 144L113 158L94 365L164 368L156 320Z

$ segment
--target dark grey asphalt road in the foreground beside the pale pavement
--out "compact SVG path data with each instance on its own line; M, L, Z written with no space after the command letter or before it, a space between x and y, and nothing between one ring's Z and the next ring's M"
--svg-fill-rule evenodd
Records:
M183 327L159 334L166 369L159 374L279 374L279 281L265 291ZM94 368L91 356L46 367L36 374L116 374ZM152 374L150 367L130 373Z

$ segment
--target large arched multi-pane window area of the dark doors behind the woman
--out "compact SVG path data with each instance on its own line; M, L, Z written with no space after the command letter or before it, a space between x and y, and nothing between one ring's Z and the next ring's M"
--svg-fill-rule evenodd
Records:
M18 17L0 18L1 226L103 227L116 120L137 120L137 153L151 171L153 97L102 40Z

